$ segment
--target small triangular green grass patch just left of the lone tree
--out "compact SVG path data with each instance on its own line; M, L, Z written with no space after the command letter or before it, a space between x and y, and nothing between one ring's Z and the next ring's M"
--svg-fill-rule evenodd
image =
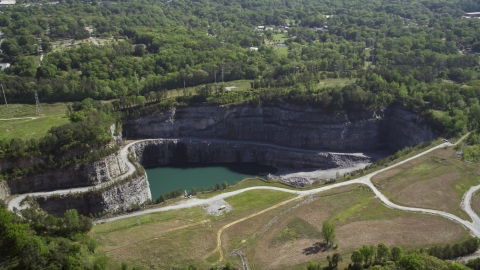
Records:
M283 228L280 233L270 241L270 245L279 246L296 239L318 239L320 237L321 233L317 230L317 228L305 220L296 217L290 220L287 226L285 226L285 228Z

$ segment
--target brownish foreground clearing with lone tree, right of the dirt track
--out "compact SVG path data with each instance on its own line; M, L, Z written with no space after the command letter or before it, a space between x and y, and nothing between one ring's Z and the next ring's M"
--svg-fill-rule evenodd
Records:
M325 220L336 225L337 250L324 250L324 241L315 237ZM303 225L291 228L292 223ZM229 233L234 235L241 229L237 227ZM295 232L292 233L295 237L285 237L292 229L302 231L303 235ZM370 190L357 187L340 194L323 195L288 213L264 237L247 248L247 257L252 269L305 269L308 260L325 261L335 252L348 258L352 250L362 245L383 242L408 250L441 243L453 244L468 237L468 232L457 223L441 217L389 209L375 199ZM280 241L283 243L279 244L279 238L283 238Z

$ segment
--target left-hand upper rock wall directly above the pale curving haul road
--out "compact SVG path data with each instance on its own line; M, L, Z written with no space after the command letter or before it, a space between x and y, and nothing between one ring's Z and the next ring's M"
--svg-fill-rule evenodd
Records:
M6 181L11 194L93 186L110 181L128 171L119 153L100 161L45 171ZM1 188L1 187L0 187ZM1 193L1 192L0 192ZM1 195L0 195L1 196Z

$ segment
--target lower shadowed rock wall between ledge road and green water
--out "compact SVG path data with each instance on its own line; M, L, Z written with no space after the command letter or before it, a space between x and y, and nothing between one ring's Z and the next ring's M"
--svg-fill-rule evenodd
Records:
M133 146L140 163L154 167L180 162L256 162L277 168L327 169L371 162L361 153L331 153L270 144L202 139L157 139Z

